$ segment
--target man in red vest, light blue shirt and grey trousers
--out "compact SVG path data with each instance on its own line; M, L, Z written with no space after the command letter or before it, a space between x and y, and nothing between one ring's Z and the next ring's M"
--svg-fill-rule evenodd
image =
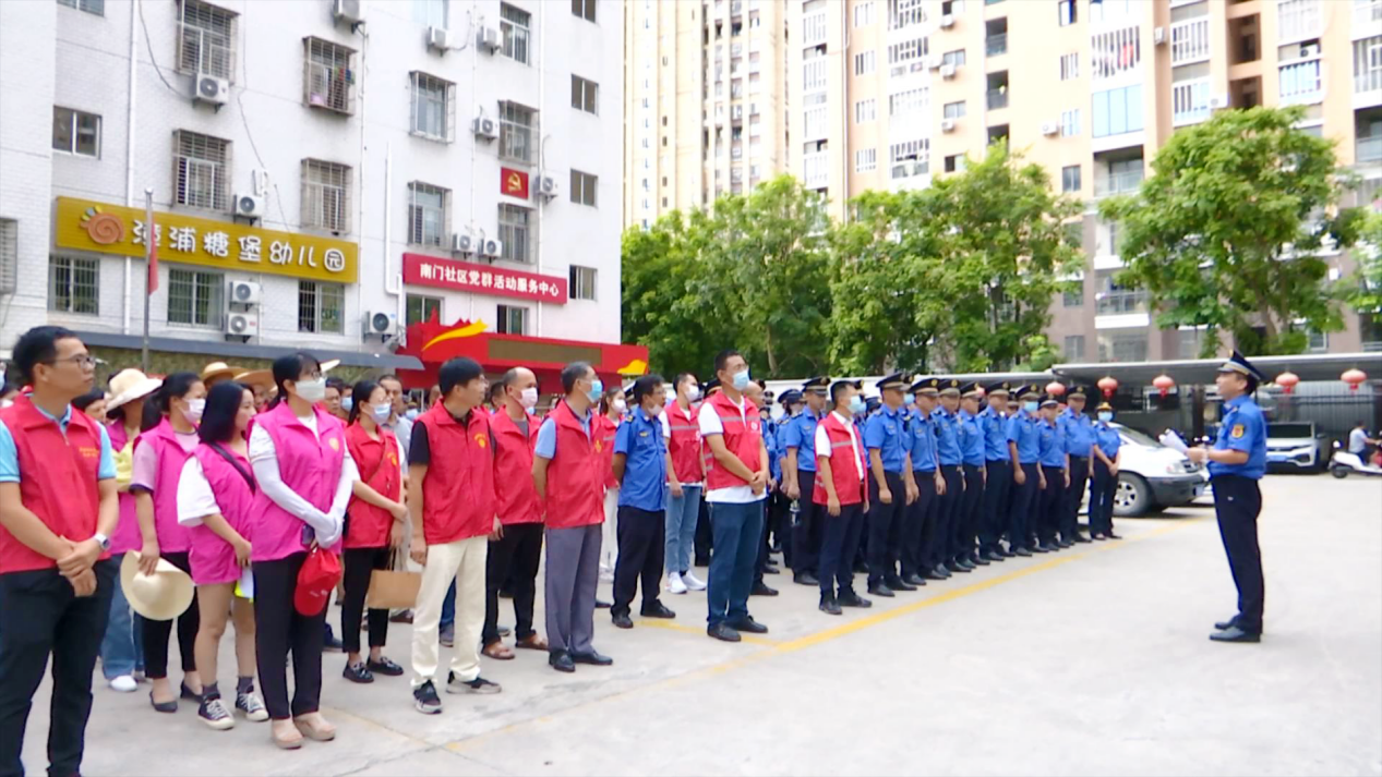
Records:
M591 406L604 382L586 362L561 370L567 395L538 431L532 480L547 523L547 662L558 672L576 664L608 667L591 640L600 580L600 524L604 523L604 440L594 433Z

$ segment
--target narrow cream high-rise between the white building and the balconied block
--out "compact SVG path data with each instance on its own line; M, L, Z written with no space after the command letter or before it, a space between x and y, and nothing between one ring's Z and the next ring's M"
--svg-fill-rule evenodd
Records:
M781 0L626 0L623 225L788 168Z

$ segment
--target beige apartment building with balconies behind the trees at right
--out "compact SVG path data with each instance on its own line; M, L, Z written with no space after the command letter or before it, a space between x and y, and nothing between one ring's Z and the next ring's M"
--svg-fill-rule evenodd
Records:
M1191 357L1202 331L1159 330L1114 276L1103 197L1133 192L1179 127L1213 110L1303 105L1382 184L1382 0L789 0L792 171L843 218L868 189L926 186L995 138L1086 203L1089 264L1053 305L1067 362ZM799 97L800 95L800 97ZM1354 269L1329 257L1331 277ZM1312 351L1382 349L1382 322L1349 315Z

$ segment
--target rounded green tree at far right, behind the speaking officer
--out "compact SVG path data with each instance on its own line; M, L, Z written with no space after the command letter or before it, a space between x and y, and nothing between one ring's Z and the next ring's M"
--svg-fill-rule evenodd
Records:
M1334 142L1295 124L1300 108L1224 110L1176 131L1137 196L1100 206L1122 225L1119 283L1143 287L1161 326L1219 330L1255 353L1298 353L1306 328L1335 331L1341 294L1321 250L1354 243L1361 214L1339 208Z

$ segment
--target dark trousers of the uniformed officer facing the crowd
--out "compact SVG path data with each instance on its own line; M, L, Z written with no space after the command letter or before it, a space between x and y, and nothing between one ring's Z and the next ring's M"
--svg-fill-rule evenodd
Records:
M1229 571L1238 587L1238 628L1262 633L1266 584L1262 578L1262 548L1258 547L1258 515L1262 513L1262 490L1258 480L1241 475L1215 475L1213 512L1219 535L1229 555Z

